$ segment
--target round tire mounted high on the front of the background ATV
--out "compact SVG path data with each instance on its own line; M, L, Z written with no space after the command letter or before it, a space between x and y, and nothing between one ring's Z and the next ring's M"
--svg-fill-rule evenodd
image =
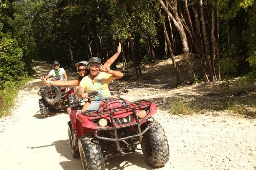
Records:
M50 90L55 92L55 94L56 94L55 98L49 97L48 92ZM61 90L56 86L46 87L44 90L43 98L49 104L54 104L56 102L59 102L59 100L61 99Z

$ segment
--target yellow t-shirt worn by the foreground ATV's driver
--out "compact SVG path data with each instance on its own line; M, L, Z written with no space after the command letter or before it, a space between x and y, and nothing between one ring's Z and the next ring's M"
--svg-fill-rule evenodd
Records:
M98 77L94 80L90 78L90 75L83 77L80 81L79 87L83 87L87 93L97 91L106 98L110 97L109 83L112 80L113 75L105 72L100 72ZM100 100L99 97L92 98L92 101Z

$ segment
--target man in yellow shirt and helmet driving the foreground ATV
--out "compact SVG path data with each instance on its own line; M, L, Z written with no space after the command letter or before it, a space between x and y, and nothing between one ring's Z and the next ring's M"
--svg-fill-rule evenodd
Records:
M90 92L97 91L101 93L104 98L110 97L109 83L113 79L122 78L124 75L120 71L114 71L110 68L101 69L101 59L98 57L92 57L88 61L88 69L90 74L85 76L79 85L78 97L87 98ZM87 93L84 93L86 91ZM98 97L91 99L91 102L86 102L82 108L82 112L85 110L98 110L101 100Z

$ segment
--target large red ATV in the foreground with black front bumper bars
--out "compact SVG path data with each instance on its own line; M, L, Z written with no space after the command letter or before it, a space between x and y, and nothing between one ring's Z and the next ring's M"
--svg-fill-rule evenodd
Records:
M153 115L154 102L129 102L120 98L104 99L100 93L88 93L101 99L99 110L81 112L82 106L69 107L68 135L73 157L81 157L84 170L105 170L104 161L142 150L147 163L161 167L169 160L165 131ZM77 103L74 105L77 105ZM141 149L137 146L141 145Z

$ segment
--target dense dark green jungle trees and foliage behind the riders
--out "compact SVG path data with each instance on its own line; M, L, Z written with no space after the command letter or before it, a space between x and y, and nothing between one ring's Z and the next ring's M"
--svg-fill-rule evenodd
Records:
M137 77L140 64L184 53L191 80L243 75L255 82L256 2L0 0L0 85L32 74L32 60L71 67L91 56L106 61L118 42L118 61ZM201 77L190 53L200 58Z

